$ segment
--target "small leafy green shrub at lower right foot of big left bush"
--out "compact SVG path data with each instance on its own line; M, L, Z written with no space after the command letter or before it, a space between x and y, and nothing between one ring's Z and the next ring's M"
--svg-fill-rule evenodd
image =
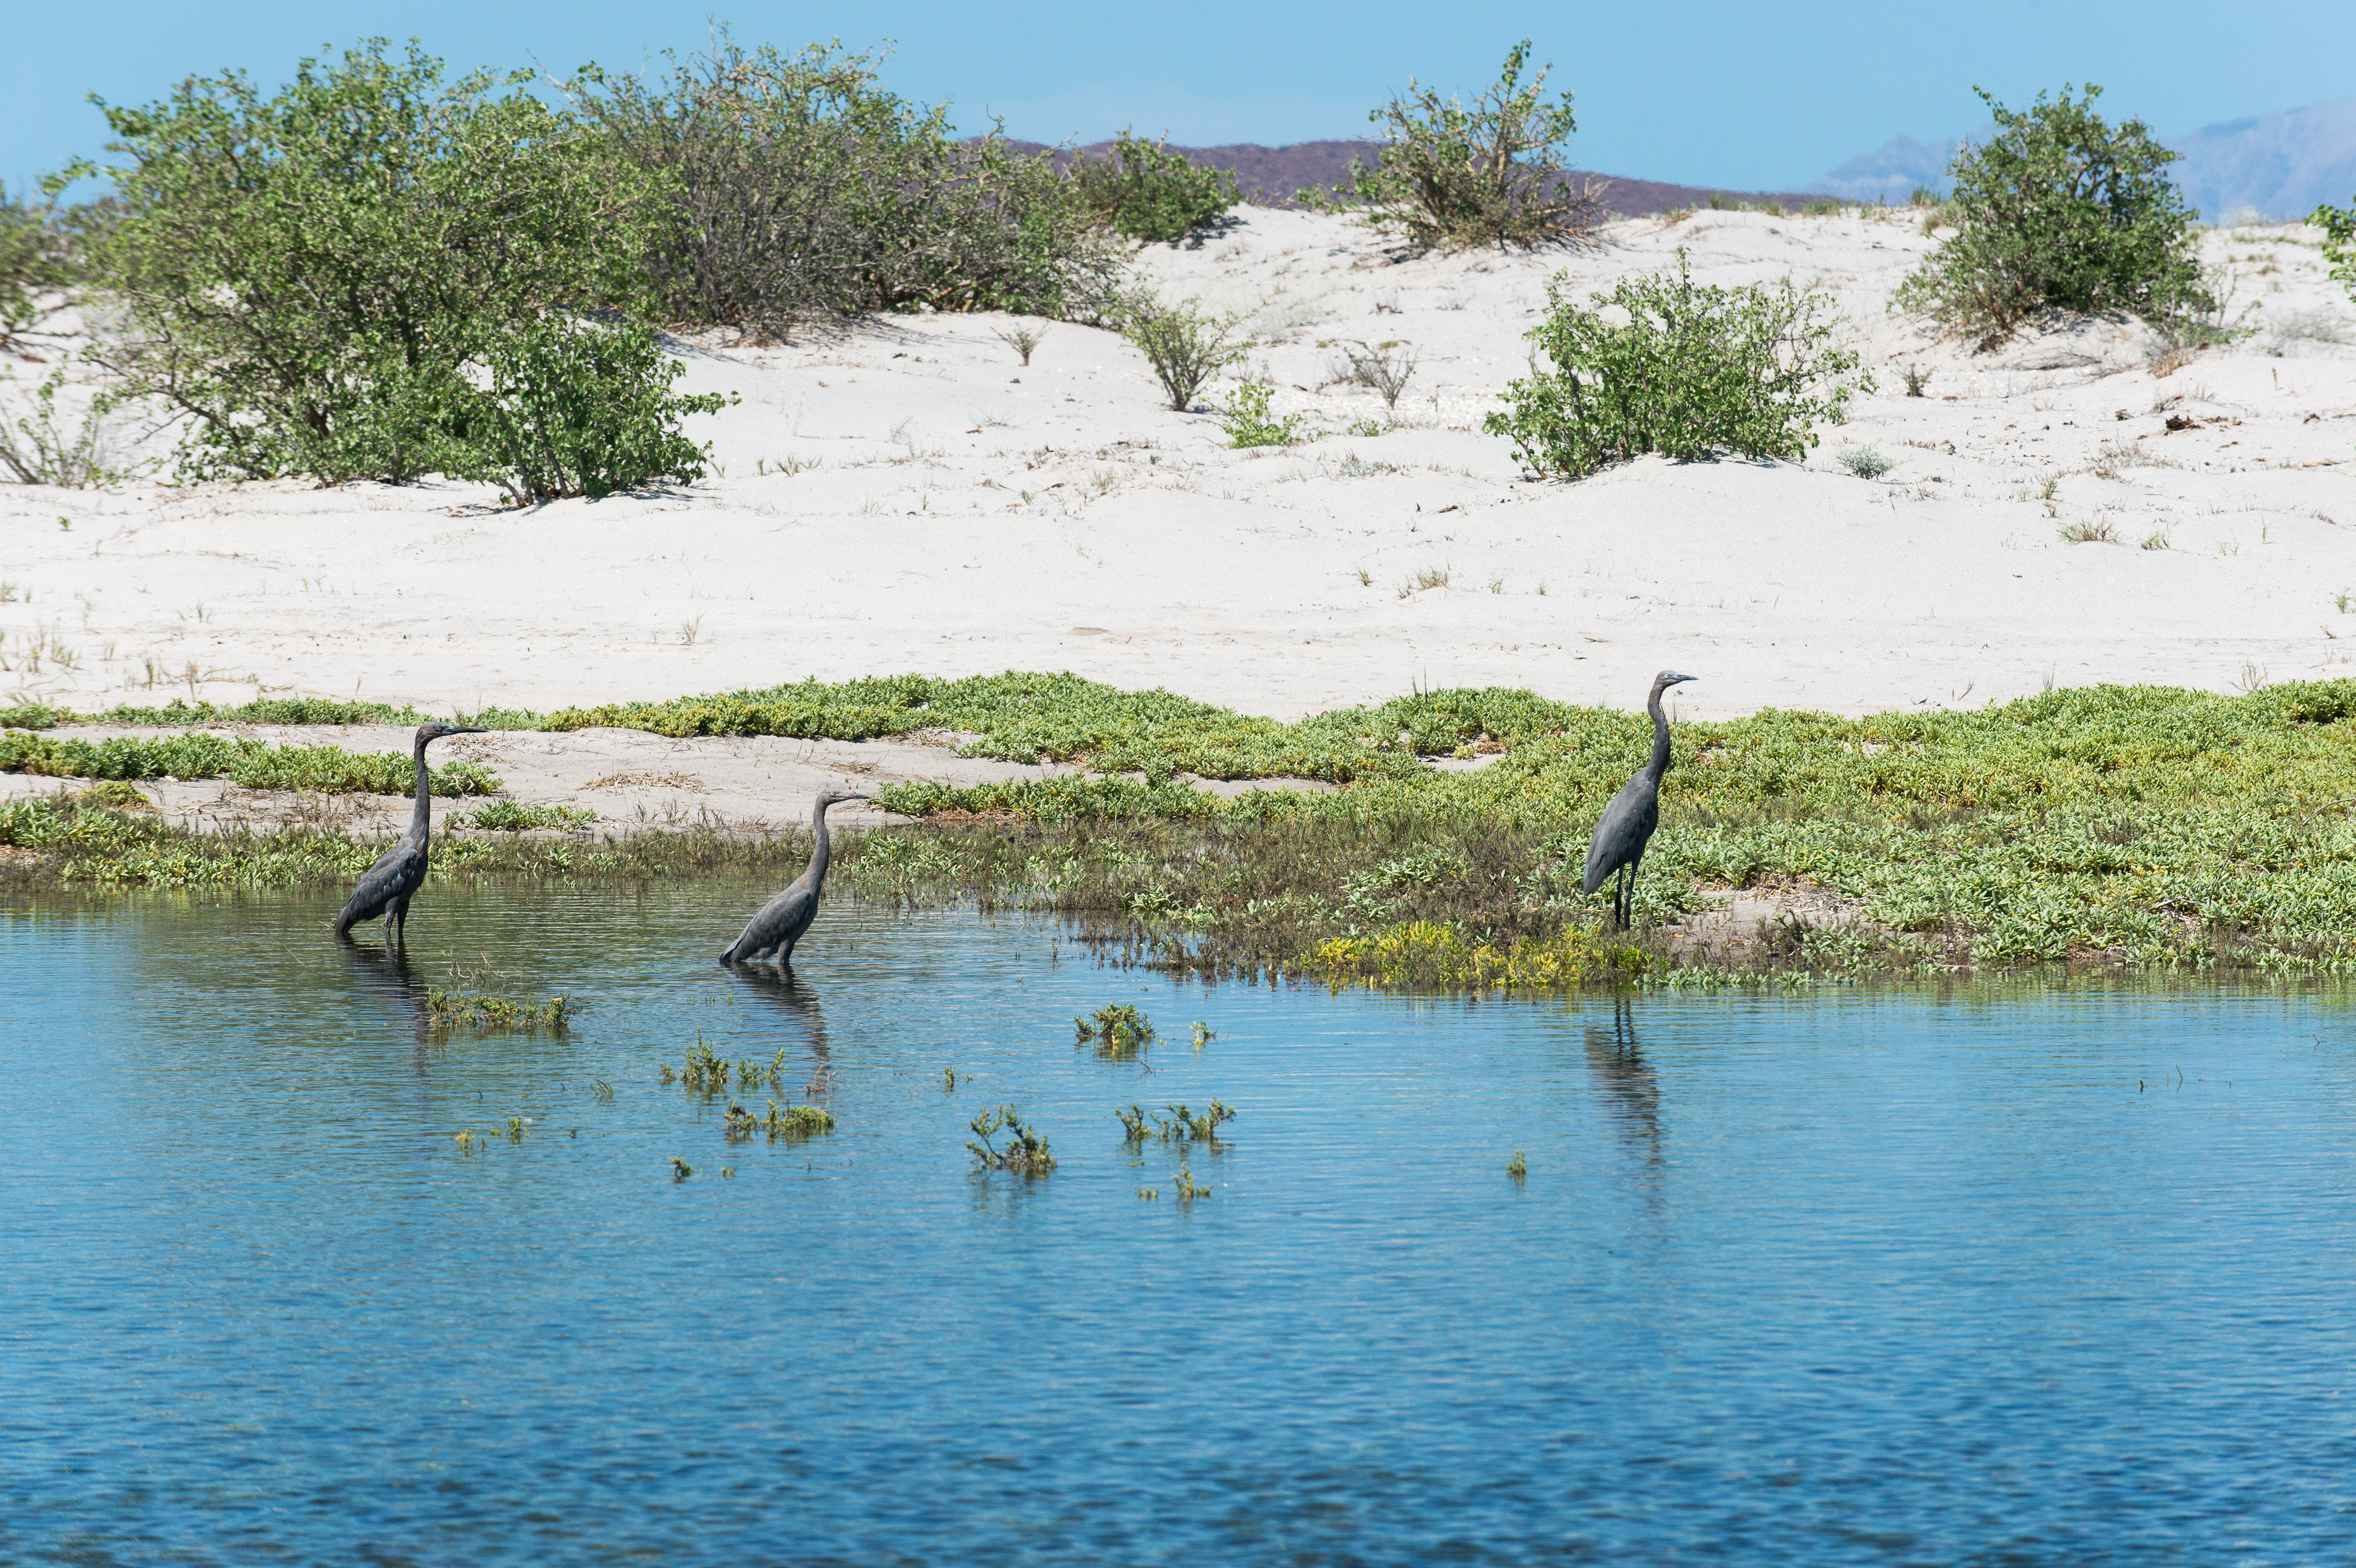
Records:
M516 506L655 480L693 485L709 447L688 440L679 419L735 403L730 393L669 391L686 365L641 323L549 313L483 358L490 388L471 398L466 452L452 473L497 480Z

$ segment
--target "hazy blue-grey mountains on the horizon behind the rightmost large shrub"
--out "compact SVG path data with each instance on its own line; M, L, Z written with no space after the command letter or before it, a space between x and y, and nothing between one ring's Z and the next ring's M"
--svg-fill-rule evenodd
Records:
M1915 186L1944 193L1955 148L1991 129L1955 141L1892 137L1831 170L1809 191L1852 202L1904 202ZM2321 202L2344 207L2356 198L2356 99L2203 125L2189 137L2160 137L2160 146L2182 153L2168 172L2184 200L2212 224L2243 212L2307 217Z

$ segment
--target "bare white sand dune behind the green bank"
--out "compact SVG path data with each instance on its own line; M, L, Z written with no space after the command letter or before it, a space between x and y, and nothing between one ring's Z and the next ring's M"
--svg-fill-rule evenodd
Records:
M1395 261L1345 219L1249 210L1143 266L1256 313L1249 367L1329 431L1308 445L1227 450L1162 407L1136 348L1074 325L1030 367L982 315L681 346L683 388L742 405L697 421L721 471L676 497L518 513L488 485L0 487L0 697L551 709L1070 669L1296 716L1411 685L1628 706L1677 666L1701 676L1685 711L1739 713L2337 676L2356 348L2328 339L2356 325L2316 238L2212 233L2262 332L2153 377L2135 325L1972 353L1890 315L1930 247L1904 212L1699 212L1574 257ZM1805 464L1524 480L1477 424L1522 374L1548 275L1604 287L1680 245L1708 283L1831 290L1880 391ZM1343 433L1383 417L1329 384L1350 339L1421 353L1381 436ZM1927 398L1904 363L1932 370ZM1835 452L1864 445L1899 466L1852 478ZM2066 544L2069 525L2116 542Z

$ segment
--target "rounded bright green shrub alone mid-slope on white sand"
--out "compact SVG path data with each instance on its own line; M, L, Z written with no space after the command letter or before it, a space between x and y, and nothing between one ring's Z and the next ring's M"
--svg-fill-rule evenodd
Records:
M1541 473L1576 478L1640 452L1800 459L1816 445L1814 424L1838 424L1847 400L1873 388L1833 344L1833 301L1788 278L1696 285L1680 250L1675 273L1621 278L1590 301L1569 299L1555 275L1546 320L1527 334L1553 370L1513 381L1501 393L1513 407L1482 421Z

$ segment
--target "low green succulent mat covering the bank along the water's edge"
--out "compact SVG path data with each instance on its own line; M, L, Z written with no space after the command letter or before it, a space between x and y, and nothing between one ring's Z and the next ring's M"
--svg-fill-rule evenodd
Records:
M530 723L839 739L945 727L973 756L1081 763L881 789L879 805L919 822L843 836L834 885L1060 913L1140 963L1399 986L1680 972L1656 937L1604 939L1579 895L1595 812L1649 744L1642 716L1465 690L1277 723L1070 676L905 676ZM1680 723L1675 746L1640 928L1703 909L1706 890L1798 888L1854 918L1776 932L1765 961L1783 970L2356 968L2356 680L1765 711ZM1447 753L1494 760L1425 760ZM1220 798L1192 777L1268 786ZM309 829L198 836L64 793L0 808L0 845L16 850L5 873L33 885L290 885L353 876L375 852ZM434 866L631 881L801 855L796 833L459 836Z

